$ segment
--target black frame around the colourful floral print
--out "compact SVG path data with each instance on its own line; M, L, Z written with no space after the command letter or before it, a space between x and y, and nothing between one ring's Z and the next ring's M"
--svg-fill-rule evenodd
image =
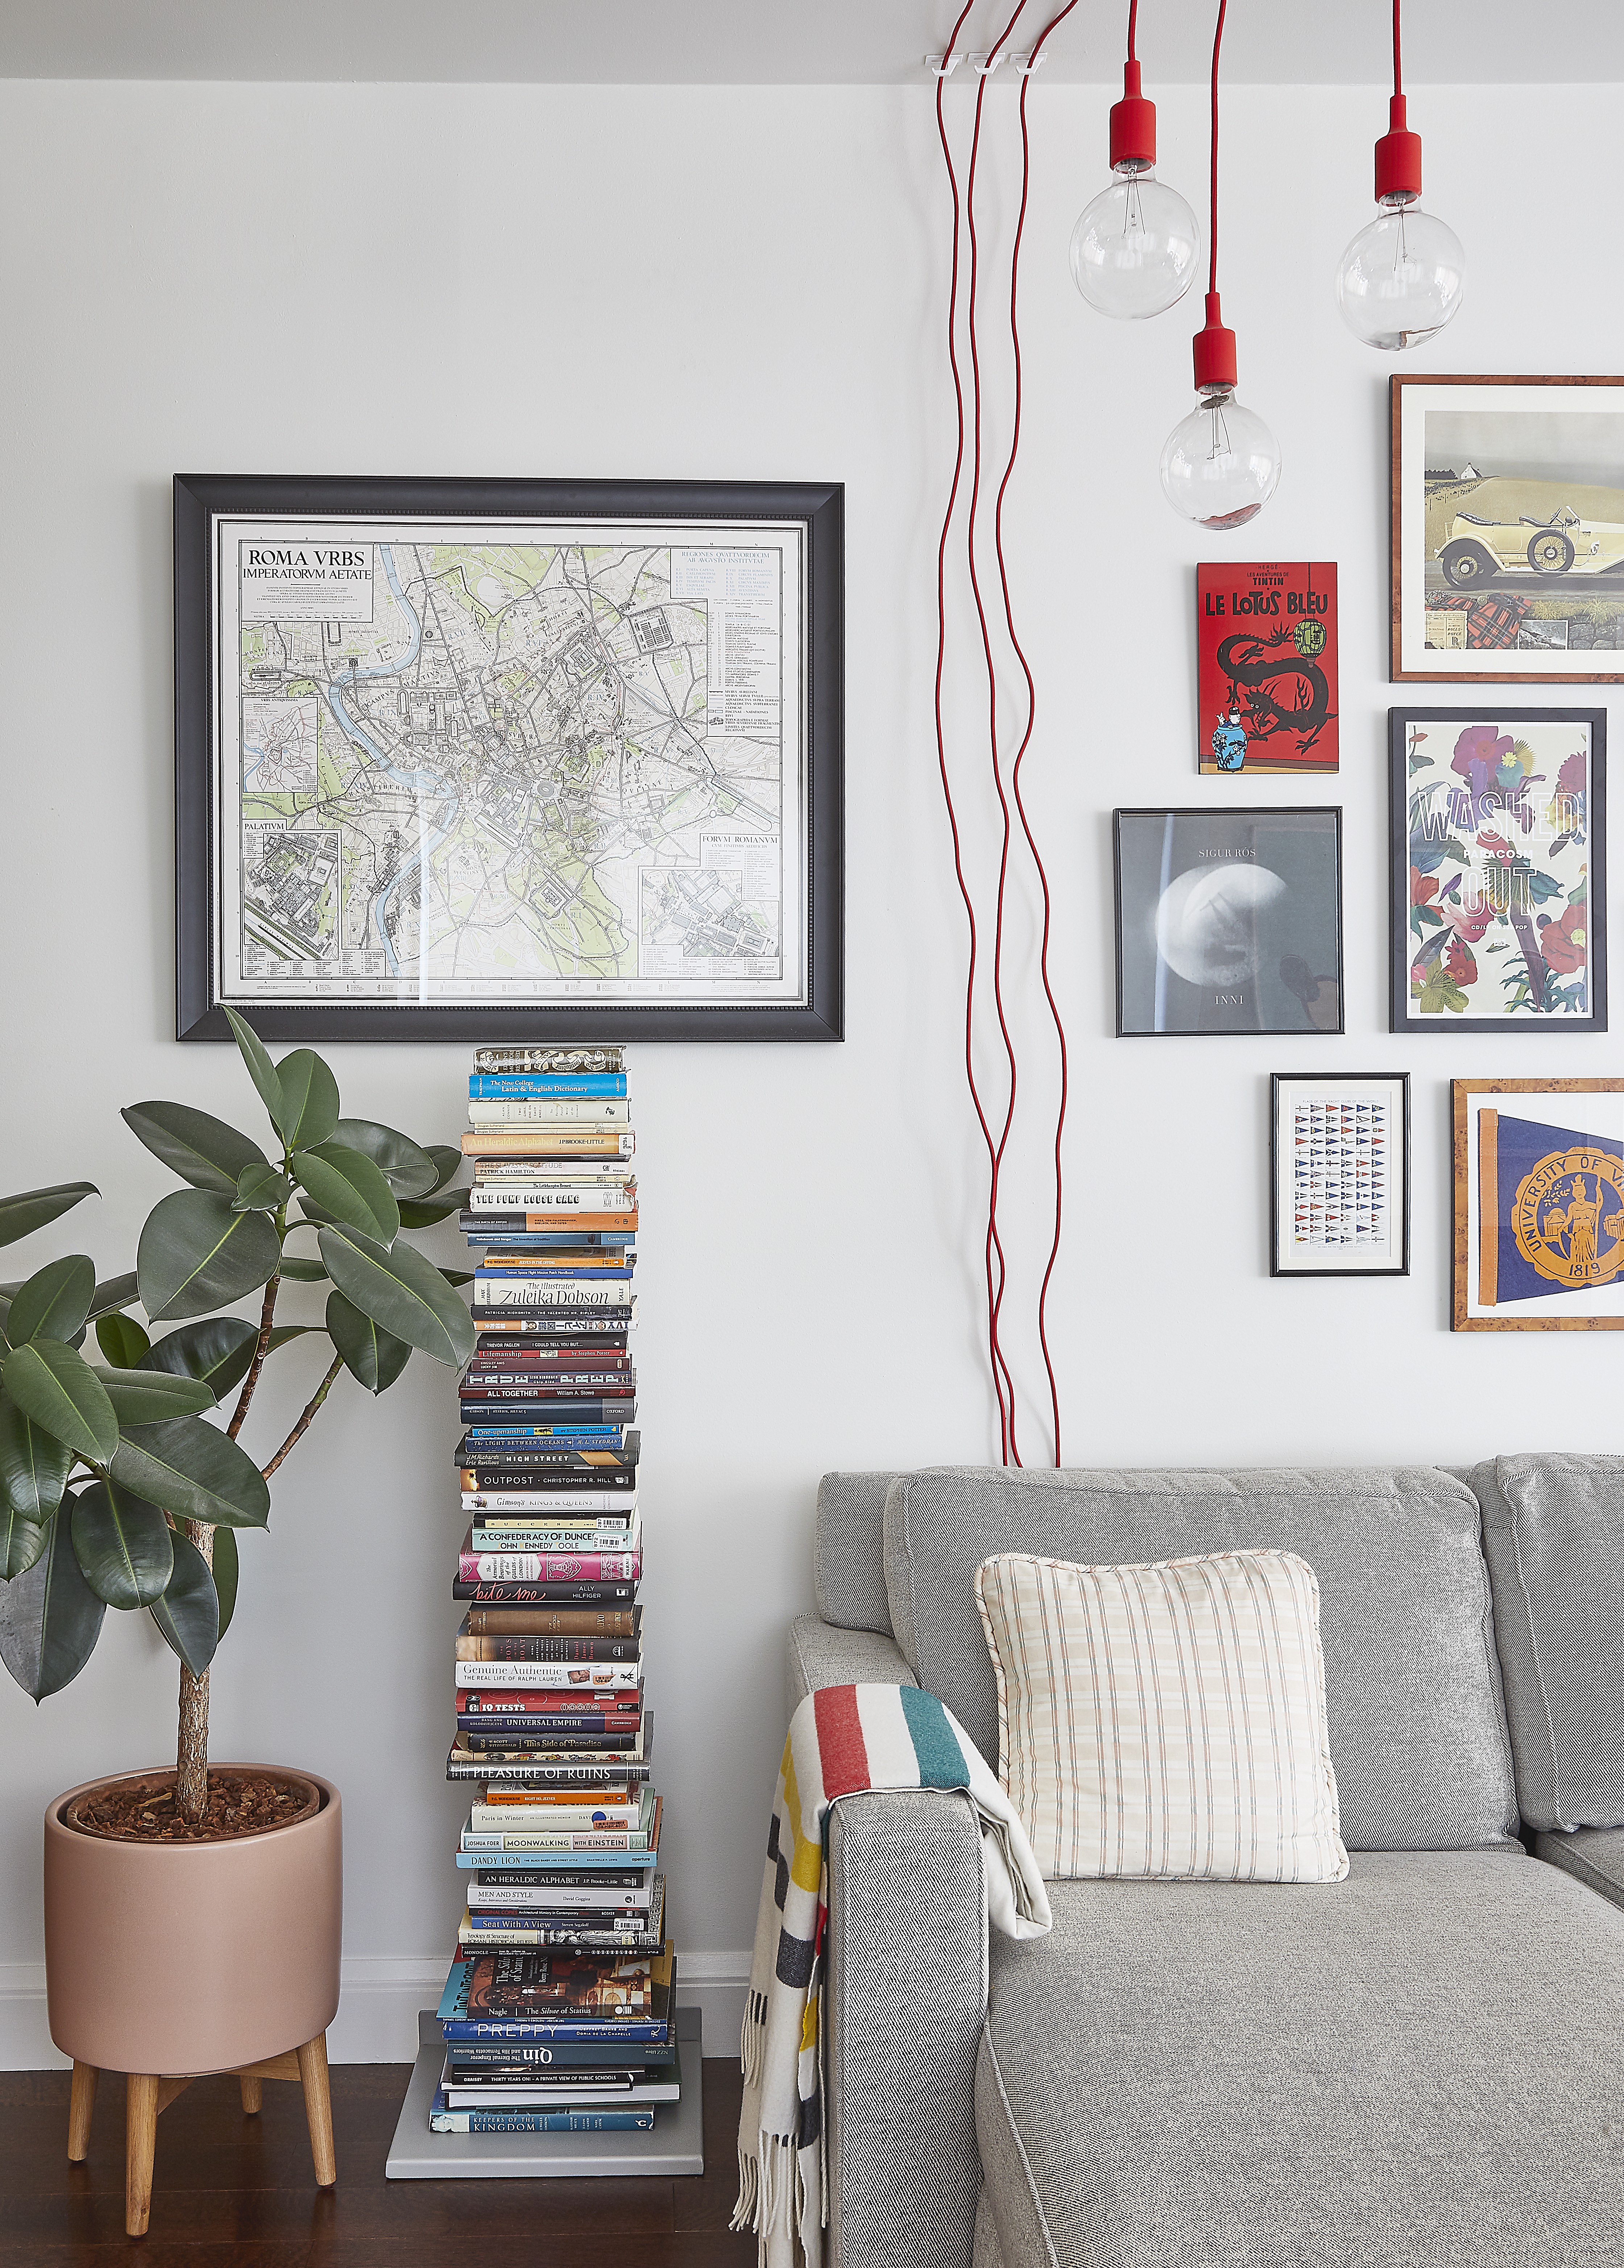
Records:
M1585 839L1585 968L1588 1016L1531 1012L1526 1016L1418 1014L1411 1000L1411 730L1427 726L1583 723L1590 730L1588 839ZM1608 712L1604 708L1411 708L1388 710L1388 1030L1390 1032L1536 1032L1572 1036L1608 1027ZM1513 853L1524 837L1513 830ZM1533 907L1531 921L1538 923ZM1549 916L1545 916L1549 919ZM1515 930L1515 925L1513 925ZM1526 966L1526 964L1524 964Z

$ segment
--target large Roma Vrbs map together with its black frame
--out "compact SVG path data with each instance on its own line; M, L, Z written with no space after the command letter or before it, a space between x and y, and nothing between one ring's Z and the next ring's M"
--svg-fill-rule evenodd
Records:
M839 1039L841 515L177 476L177 1036Z

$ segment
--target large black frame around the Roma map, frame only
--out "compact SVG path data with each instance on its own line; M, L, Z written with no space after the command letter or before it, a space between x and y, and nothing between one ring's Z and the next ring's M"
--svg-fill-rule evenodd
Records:
M805 531L805 998L783 1005L243 1005L263 1039L651 1041L844 1036L844 483L175 476L175 1036L229 1041L215 980L213 528L220 515L798 522ZM238 1002L234 1002L238 1005Z

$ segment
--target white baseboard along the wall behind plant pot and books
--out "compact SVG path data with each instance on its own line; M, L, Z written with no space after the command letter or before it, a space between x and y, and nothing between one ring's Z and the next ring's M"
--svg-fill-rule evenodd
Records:
M735 2055L744 2025L748 1953L683 1953L678 2000L705 2016L705 2053ZM417 2012L445 1984L442 1955L354 1955L340 1969L338 2016L327 2034L333 2064L411 2064ZM45 1964L0 1962L0 2071L66 2071L45 2023Z

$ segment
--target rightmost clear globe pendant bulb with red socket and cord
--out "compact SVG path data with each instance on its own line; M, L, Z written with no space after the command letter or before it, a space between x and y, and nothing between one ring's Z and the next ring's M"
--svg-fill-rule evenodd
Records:
M1465 293L1465 252L1454 229L1420 209L1420 134L1409 132L1402 86L1399 0L1393 0L1393 102L1377 143L1377 218L1336 263L1343 322L1368 347L1402 354L1454 318Z

